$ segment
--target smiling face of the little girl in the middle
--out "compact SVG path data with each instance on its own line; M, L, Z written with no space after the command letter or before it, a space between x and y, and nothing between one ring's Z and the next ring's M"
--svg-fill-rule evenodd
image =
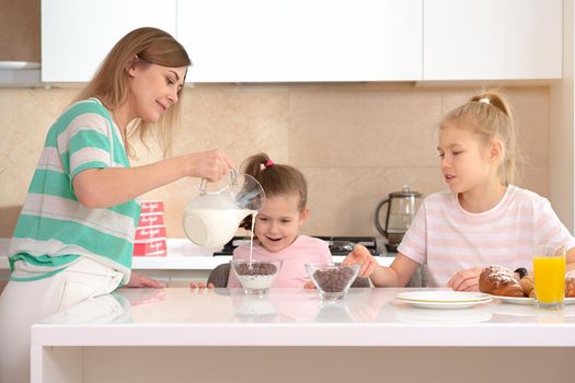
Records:
M309 211L299 212L298 205L298 195L266 198L264 208L255 218L255 235L262 246L276 253L296 241Z

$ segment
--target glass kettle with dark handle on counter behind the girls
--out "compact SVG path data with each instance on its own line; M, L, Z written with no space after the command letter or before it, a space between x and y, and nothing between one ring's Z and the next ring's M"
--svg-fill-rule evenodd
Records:
M422 204L422 195L412 192L407 186L403 190L393 192L389 197L379 202L376 208L375 224L377 230L388 240L386 245L388 252L396 252L398 245L403 240L403 235L410 229L410 225ZM387 207L384 225L380 222L381 209Z

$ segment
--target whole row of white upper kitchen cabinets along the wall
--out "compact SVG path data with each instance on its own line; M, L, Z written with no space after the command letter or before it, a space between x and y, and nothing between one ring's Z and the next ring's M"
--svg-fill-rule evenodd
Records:
M43 0L43 81L89 81L146 25L186 47L188 82L562 77L562 0Z

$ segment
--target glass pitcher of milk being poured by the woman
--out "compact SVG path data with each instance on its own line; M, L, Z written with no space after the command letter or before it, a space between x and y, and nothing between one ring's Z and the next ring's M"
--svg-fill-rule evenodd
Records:
M207 182L202 179L198 196L184 210L184 231L196 245L221 247L233 237L245 217L262 209L265 193L254 177L234 170L230 172L229 184L219 190L206 188Z

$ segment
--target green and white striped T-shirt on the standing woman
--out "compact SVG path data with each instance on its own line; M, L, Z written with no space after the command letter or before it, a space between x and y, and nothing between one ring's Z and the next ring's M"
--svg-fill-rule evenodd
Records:
M10 245L11 279L46 278L87 256L128 281L139 202L89 209L72 188L77 174L103 167L129 167L122 135L97 98L80 101L48 131Z

